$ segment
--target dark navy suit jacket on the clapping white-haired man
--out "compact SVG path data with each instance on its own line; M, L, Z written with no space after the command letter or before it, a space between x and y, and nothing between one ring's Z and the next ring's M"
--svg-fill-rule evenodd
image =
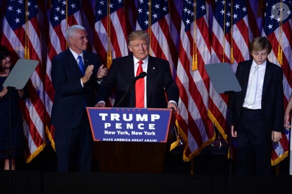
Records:
M82 72L69 49L61 52L52 60L51 78L55 89L55 98L51 113L51 124L57 127L76 128L86 107L97 103L97 70L101 65L99 57L83 52L85 68L94 65L91 79L81 85Z

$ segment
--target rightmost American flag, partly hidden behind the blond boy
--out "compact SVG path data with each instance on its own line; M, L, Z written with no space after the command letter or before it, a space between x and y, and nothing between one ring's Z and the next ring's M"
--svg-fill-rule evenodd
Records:
M292 91L292 5L291 1L269 0L266 3L265 21L262 36L266 36L272 44L269 61L283 69L284 107ZM282 161L289 150L289 131L282 134L280 143L274 143L271 163L276 165Z

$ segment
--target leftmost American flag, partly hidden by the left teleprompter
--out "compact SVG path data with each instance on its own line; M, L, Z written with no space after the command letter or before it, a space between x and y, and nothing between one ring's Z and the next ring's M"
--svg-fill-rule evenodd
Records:
M45 146L44 76L41 36L36 1L7 1L1 44L9 48L12 62L19 58L38 60L39 64L27 83L29 98L21 104L24 133L27 138L26 161L30 162Z

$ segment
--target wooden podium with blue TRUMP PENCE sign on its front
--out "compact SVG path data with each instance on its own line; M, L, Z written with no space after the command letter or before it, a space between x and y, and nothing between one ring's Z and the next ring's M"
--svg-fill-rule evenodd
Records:
M123 110L123 111L122 111ZM130 113L140 113L140 111L145 111L143 115L151 115L155 111L166 112L167 122L164 123L160 128L155 128L155 131L165 131L162 134L165 138L160 142L135 142L134 138L127 140L130 141L108 141L110 138L97 138L102 136L107 129L103 126L107 125L107 121L97 121L97 115L101 114L111 114L115 117L122 116L124 112ZM111 113L105 113L105 111L110 111ZM175 114L171 109L117 109L117 108L88 108L88 114L91 123L91 129L94 137L94 150L97 155L99 167L102 172L139 172L139 173L160 173L163 170L164 157L167 151L170 149L170 144L172 143L173 133L175 129ZM134 116L133 116L134 117ZM165 121L165 120L164 120ZM157 122L164 122L157 121ZM119 122L119 121L118 121ZM142 122L140 122L141 124ZM109 124L108 124L109 125ZM145 125L146 126L146 125ZM162 130L162 128L167 127L167 129ZM96 129L98 128L98 129ZM130 131L135 130L135 128ZM139 132L140 129L137 129ZM148 130L148 129L144 129ZM121 129L120 131L123 131ZM150 130L149 130L150 131ZM152 130L153 131L153 130ZM149 133L153 133L153 132ZM100 133L101 132L101 133ZM97 134L100 133L100 134ZM148 133L148 132L146 132ZM158 135L158 134L156 134ZM125 140L126 138L121 138ZM105 140L105 141L104 141ZM114 140L114 139L110 139ZM143 140L142 138L140 140ZM144 139L145 140L145 139Z

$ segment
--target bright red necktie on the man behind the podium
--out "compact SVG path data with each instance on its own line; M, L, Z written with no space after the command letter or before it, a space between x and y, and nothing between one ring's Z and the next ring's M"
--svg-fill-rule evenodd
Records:
M139 66L137 69L136 76L143 72L142 69L143 61L138 61L138 63ZM136 108L144 108L144 77L136 81L135 89L136 89Z

